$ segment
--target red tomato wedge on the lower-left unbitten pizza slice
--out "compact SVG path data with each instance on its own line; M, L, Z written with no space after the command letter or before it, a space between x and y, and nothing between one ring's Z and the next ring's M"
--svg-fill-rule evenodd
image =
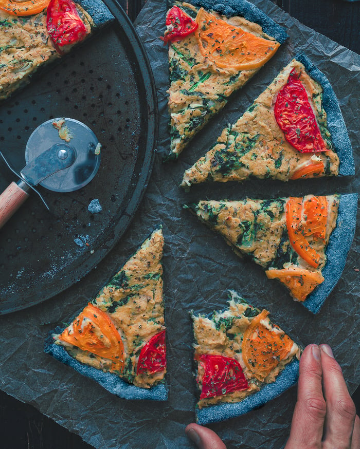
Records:
M152 336L142 347L136 373L154 374L166 369L165 330Z

